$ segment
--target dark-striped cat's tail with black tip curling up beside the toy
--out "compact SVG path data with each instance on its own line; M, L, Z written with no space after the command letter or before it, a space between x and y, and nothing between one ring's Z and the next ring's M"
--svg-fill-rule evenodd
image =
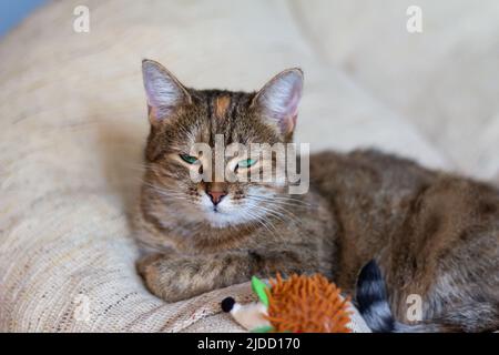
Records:
M360 271L356 290L357 307L375 333L487 332L499 329L499 305L477 303L460 305L441 320L408 325L391 313L381 271L373 260ZM467 325L467 326L464 326Z

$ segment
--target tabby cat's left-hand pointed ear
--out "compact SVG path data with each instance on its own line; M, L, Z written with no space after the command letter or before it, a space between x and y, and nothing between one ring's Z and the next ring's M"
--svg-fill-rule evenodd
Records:
M180 105L191 103L191 95L184 85L159 62L144 59L142 77L151 124L167 119Z

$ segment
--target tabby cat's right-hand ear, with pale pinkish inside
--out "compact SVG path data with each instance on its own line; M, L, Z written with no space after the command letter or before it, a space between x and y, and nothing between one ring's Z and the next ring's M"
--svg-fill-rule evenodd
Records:
M253 105L257 105L269 123L283 135L293 133L298 116L298 103L303 91L303 71L287 69L272 78L256 93Z

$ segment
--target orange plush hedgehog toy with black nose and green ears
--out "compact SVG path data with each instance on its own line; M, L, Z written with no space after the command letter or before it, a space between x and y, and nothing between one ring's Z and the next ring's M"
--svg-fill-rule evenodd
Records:
M253 332L293 333L349 333L348 298L326 277L281 275L271 278L269 286L257 277L252 278L253 291L258 303L240 305L232 297L222 302L222 308L230 312L245 328Z

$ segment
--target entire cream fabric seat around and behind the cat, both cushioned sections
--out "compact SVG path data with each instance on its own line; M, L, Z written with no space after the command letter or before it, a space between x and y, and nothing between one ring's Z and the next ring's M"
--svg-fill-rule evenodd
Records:
M346 3L61 1L4 38L0 331L242 331L220 313L220 301L251 300L248 284L165 304L135 274L129 221L149 129L142 58L189 85L234 90L301 65L298 139L314 150L377 146L432 168L497 174L497 2L447 2L461 22L451 32L449 22L429 21L416 43L404 42L405 9L396 16ZM78 4L90 9L90 33L73 31ZM480 47L482 36L489 47ZM465 59L452 61L460 52ZM358 315L353 328L368 331Z

